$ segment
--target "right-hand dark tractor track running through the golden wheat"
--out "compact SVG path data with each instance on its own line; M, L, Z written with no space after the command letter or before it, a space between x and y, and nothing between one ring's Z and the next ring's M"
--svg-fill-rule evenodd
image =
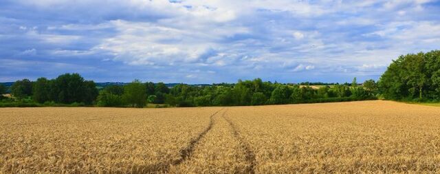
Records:
M245 152L245 160L246 160L246 162L248 162L250 164L249 167L246 168L245 173L254 174L255 173L255 166L256 166L255 153L254 153L254 151L252 151L252 149L250 149L250 145L248 144L248 142L245 142L245 140L243 140L243 138L241 138L240 132L236 128L235 124L232 123L231 120L229 120L228 118L225 117L225 113L226 113L226 111L223 113L223 115L221 115L221 117L223 117L223 119L225 119L226 122L228 122L228 124L232 128L232 132L234 134L234 137L237 140L239 140L240 146Z

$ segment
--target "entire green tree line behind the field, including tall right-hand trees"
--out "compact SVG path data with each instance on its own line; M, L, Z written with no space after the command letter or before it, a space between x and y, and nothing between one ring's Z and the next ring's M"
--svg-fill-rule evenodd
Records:
M5 91L0 85L0 94ZM362 85L358 85L356 78L352 83L344 84L283 84L256 78L233 84L178 84L168 88L164 83L133 80L127 85L109 85L98 90L94 81L85 80L80 74L63 74L50 80L17 80L10 91L14 98L3 98L3 102L80 103L100 107L144 107L148 103L173 107L278 105L375 98L438 101L440 51L399 56L377 83L366 80Z

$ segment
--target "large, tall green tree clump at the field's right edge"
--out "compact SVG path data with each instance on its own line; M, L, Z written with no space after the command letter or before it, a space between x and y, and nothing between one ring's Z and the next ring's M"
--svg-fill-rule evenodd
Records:
M388 66L378 86L387 99L440 98L440 52L401 55Z

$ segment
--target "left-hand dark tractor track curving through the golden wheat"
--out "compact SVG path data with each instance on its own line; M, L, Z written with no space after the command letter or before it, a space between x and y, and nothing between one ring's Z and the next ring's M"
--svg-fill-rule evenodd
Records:
M188 143L188 146L186 146L184 149L180 149L179 159L146 166L146 167L144 167L144 169L141 169L139 172L140 173L168 173L171 165L177 166L177 165L181 164L182 162L185 162L186 160L188 160L191 157L192 153L194 152L195 146L200 142L201 138L203 138L206 135L206 133L208 133L212 129L212 126L214 125L214 116L217 115L217 113L219 113L223 109L224 108L221 108L218 111L212 113L212 115L210 116L208 127L206 127L206 129L204 129L201 133L199 133L199 135L197 135L195 138L192 138L192 140L190 140L190 142ZM138 173L138 172L135 172L135 173Z

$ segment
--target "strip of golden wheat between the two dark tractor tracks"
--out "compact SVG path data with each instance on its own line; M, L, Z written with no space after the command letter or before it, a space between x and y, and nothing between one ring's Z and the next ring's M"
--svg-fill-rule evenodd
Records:
M234 129L225 120L227 111L214 116L212 129L195 145L192 155L170 173L250 173L252 167Z

